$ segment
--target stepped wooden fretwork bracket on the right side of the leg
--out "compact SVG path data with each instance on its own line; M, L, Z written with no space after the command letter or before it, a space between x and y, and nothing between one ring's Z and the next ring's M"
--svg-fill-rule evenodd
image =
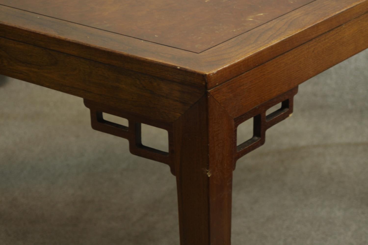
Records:
M267 129L288 118L293 113L293 99L297 93L298 87L295 87L294 89L291 89L234 119L235 137L237 136L237 127L241 123L251 118L254 120L253 137L240 145L237 145L236 139L234 140L234 168L235 162L239 158L265 143ZM280 102L282 103L281 108L266 116L266 111Z

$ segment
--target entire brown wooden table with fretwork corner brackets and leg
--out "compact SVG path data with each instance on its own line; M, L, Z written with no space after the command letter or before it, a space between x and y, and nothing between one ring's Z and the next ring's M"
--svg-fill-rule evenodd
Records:
M237 159L291 115L298 84L367 47L368 0L0 0L0 74L84 98L93 129L169 165L181 245L230 244ZM168 152L141 123L168 131Z

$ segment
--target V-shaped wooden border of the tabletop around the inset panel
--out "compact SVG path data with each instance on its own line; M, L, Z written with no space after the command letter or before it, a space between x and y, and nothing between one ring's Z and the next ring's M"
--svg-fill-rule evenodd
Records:
M0 36L210 89L367 11L367 0L315 0L200 54L4 5Z

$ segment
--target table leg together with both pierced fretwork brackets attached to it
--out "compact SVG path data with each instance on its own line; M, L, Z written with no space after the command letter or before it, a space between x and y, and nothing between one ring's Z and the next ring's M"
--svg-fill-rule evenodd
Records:
M126 138L132 154L170 166L177 180L181 245L230 245L235 163L265 143L267 129L291 115L297 91L295 87L237 118L206 93L173 123L157 122L89 100L84 104L91 110L93 129ZM266 115L278 103L281 108ZM129 126L106 121L103 112L127 118ZM251 118L253 137L237 145L237 126ZM142 144L141 123L168 131L169 152Z

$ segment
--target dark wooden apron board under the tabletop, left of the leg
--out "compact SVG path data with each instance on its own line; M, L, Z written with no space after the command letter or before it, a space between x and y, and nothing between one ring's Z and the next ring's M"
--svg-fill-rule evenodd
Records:
M151 120L174 122L204 94L195 87L1 37L0 47L3 75Z

